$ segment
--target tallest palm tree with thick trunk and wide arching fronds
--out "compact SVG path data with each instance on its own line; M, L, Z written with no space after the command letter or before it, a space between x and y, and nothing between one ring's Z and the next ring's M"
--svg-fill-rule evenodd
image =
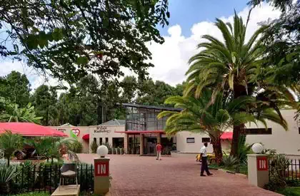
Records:
M184 95L194 95L198 98L204 88L211 88L209 105L214 103L220 91L224 92L224 96L234 99L254 96L259 102L241 111L257 113L260 116L259 113L266 108L274 108L281 117L279 123L284 124L279 107L283 104L294 104L294 96L286 87L276 86L265 80L266 69L262 66L264 46L261 44L260 35L266 27L262 26L246 42L248 21L249 16L244 24L236 14L233 26L216 19L215 24L221 31L224 41L214 36L203 36L206 41L198 45L198 48L203 50L189 60L191 66L186 72L188 78ZM234 125L231 155L237 155L239 135L243 130L244 124Z

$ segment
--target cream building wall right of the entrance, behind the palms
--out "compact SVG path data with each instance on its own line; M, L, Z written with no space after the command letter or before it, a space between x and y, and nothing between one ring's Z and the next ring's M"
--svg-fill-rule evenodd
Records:
M271 135L247 135L246 143L262 143L264 148L276 149L278 153L286 155L300 155L300 134L299 125L294 120L296 110L281 110L281 114L289 125L289 130L284 130L281 125L267 121L268 128L272 129ZM265 128L264 125L256 126L254 123L246 124L246 128ZM231 130L232 131L232 130ZM196 134L189 132L181 132L176 134L177 150L186 153L199 152L202 143L202 138L207 138L207 135ZM186 143L186 138L195 138L195 143ZM222 141L223 150L229 152L230 143L227 140ZM212 153L212 145L209 144L208 152Z

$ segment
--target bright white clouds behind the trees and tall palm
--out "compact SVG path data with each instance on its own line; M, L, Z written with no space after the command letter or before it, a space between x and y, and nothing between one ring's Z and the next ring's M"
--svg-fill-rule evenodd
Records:
M246 22L249 7L239 12ZM246 38L249 37L259 28L259 22L268 19L275 19L279 17L280 11L274 10L272 6L261 4L261 6L254 9L251 13L251 18L246 32ZM228 22L233 21L233 15L229 17L221 17L222 20ZM221 39L221 32L214 26L211 21L200 21L191 26L191 36L184 37L181 35L181 26L176 24L169 27L169 36L164 36L165 42L146 43L152 53L151 63L154 63L153 68L149 68L149 74L154 80L165 81L171 85L181 83L185 79L185 72L189 68L188 61L197 51L196 46L203 41L201 36L209 34ZM2 61L0 62L0 76L4 76L11 71L19 71L25 73L31 82L31 88L35 89L41 84L56 86L59 82L54 78L44 78L36 73L32 68L23 65L21 62ZM124 68L126 75L133 74L132 71Z

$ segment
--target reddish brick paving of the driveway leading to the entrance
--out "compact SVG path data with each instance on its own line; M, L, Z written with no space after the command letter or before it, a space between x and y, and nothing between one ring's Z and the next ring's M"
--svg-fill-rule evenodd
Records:
M82 162L93 163L96 155L79 155ZM111 195L278 195L248 184L244 175L211 170L213 176L200 177L200 164L193 158L140 157L109 155L113 177Z

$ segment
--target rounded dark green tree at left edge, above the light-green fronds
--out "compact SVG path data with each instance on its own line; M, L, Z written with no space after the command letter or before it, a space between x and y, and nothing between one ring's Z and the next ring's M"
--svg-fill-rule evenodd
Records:
M20 107L29 103L30 83L24 74L11 71L9 75L0 78L0 96Z

